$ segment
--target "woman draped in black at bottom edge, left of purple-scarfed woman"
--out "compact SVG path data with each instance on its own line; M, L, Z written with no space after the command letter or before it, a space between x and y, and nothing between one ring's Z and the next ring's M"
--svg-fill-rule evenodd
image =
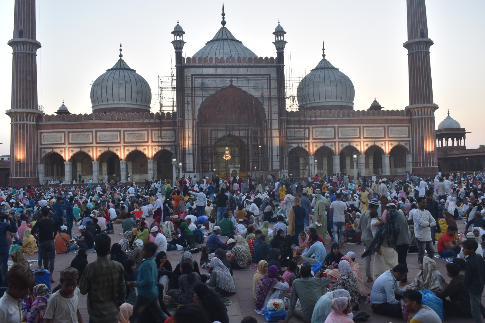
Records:
M206 284L195 284L194 303L206 310L210 322L229 323L226 305L224 305L221 297L207 287Z

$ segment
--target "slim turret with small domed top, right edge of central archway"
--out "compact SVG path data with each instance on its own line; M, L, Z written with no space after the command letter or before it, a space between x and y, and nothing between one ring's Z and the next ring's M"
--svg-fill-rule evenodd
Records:
M285 91L285 30L279 24L275 28L275 42L276 58L278 65L276 66L276 87L277 87L277 104L279 112L279 155L280 155L280 169L282 174L288 175L288 147L286 143L287 126L286 126L286 91Z

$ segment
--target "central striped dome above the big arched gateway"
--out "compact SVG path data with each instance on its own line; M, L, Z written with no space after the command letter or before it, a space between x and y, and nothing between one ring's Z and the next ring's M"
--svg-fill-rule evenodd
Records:
M200 48L192 57L258 57L251 49L242 45L242 41L237 40L231 32L222 26L215 36Z

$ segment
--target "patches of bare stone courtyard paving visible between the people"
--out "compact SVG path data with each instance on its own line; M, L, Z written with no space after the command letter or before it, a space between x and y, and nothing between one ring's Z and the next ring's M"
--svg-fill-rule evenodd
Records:
M153 220L150 218L148 219L148 222L151 223ZM457 221L458 223L458 229L461 232L464 232L465 230L465 224L463 221ZM73 232L77 234L77 229L76 227L73 227ZM123 237L122 235L119 235L121 233L121 225L114 225L114 234L110 235L111 237L111 242L112 244L115 242L119 242L121 238ZM227 240L226 237L221 237L222 241ZM207 237L206 237L207 241ZM325 241L325 247L327 248L327 253L328 253L328 248L330 248L330 238L327 234L326 241ZM362 252L363 252L363 246L362 245L350 245L350 244L345 244L343 248L341 248L341 252L343 254L346 254L348 251L354 251L357 255L356 262L360 265L362 269L363 275L365 275L365 266L364 266L364 260L358 258ZM168 260L172 263L172 267L175 268L175 265L178 263L178 260L181 256L180 251L170 251L167 253L168 254ZM194 259L198 261L200 259L200 253L194 254ZM55 258L55 266L54 266L54 279L56 280L55 283L53 283L53 286L56 286L59 282L59 271L64 268L65 266L68 266L71 263L72 258L74 258L74 254L69 254L69 255L56 255ZM26 255L26 259L31 260L31 259L37 259L37 254L34 255ZM92 262L96 259L96 254L88 254L88 261ZM439 258L435 258L435 261L438 265L438 269L441 272L441 274L447 279L447 281L450 281L450 278L448 278L447 273L446 273L446 261L441 260ZM418 255L417 254L409 254L407 256L407 265L409 268L409 273L408 273L408 281L411 282L415 275L418 273ZM37 263L32 264L31 268L36 269ZM207 271L203 268L200 269L201 273L206 273ZM232 295L229 297L229 299L233 302L232 305L227 307L227 312L229 314L229 319L231 323L239 323L241 322L242 318L248 315L251 315L255 317L258 322L266 322L263 316L257 314L254 311L254 298L253 298L253 290L252 290L252 281L253 281L253 275L255 271L249 269L249 266L245 270L236 270L234 271L234 283L237 289L237 293L235 295ZM462 274L464 273L463 271L461 272ZM364 278L365 279L365 278ZM370 293L372 290L372 284L371 283L365 283L366 286L366 292ZM485 293L484 295L485 296ZM483 301L482 301L483 303ZM381 316L374 314L372 312L372 309L370 307L370 304L364 305L360 304L360 309L369 313L371 315L370 319L368 322L372 323L396 323L396 322L401 322L402 320L396 319L396 318L391 318L391 317L386 317L386 316ZM84 322L88 322L89 315L87 313L87 306L86 306L86 296L81 295L81 314ZM464 319L464 318L458 318L458 317L450 317L450 318L445 318L445 322L459 322L460 323L471 323L473 322L472 319ZM292 323L299 323L299 322L304 322L303 320L297 318L297 317L292 317L290 322Z

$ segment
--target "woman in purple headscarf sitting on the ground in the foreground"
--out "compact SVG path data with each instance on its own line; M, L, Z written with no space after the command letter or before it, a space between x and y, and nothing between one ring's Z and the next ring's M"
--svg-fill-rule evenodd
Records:
M288 283L278 275L278 268L270 266L266 275L262 276L256 287L254 306L258 313L266 308L268 301L273 298L283 298L290 290Z

